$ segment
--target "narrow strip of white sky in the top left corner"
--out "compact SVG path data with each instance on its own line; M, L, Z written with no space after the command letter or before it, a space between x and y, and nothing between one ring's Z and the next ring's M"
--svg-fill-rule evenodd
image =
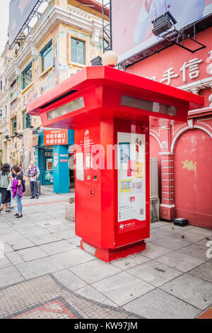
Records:
M8 39L8 4L9 0L0 0L0 55Z

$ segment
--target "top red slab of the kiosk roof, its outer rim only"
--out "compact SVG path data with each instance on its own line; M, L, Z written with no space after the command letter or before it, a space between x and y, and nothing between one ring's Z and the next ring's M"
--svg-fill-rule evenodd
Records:
M35 99L27 106L27 111L31 115L40 115L45 109L40 109L41 106L53 101L55 98L66 94L71 90L79 91L86 89L94 83L109 84L110 86L117 87L124 90L135 92L146 91L151 96L169 96L178 101L189 102L189 110L201 108L204 106L204 97L187 91L177 89L167 84L161 84L138 75L123 72L119 69L114 69L107 66L85 67L80 72L74 74L69 79L64 80L61 84L54 86L54 88L47 91L45 94Z

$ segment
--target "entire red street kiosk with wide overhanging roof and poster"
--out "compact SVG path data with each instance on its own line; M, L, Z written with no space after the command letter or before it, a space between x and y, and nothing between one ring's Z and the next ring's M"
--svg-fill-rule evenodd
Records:
M86 67L28 104L42 125L75 130L76 235L112 261L150 237L149 124L170 125L204 98L111 67Z

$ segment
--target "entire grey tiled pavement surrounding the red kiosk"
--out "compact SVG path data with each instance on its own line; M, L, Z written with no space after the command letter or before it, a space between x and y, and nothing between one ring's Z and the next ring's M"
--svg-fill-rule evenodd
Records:
M79 249L70 196L23 198L22 219L1 213L1 318L194 318L210 307L212 230L155 222L146 252L106 264Z

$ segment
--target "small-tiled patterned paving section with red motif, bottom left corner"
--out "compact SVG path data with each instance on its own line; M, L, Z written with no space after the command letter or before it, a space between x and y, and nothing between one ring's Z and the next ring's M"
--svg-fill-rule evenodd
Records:
M0 299L0 318L139 318L139 315L134 315L122 308L84 298L61 285L51 274L2 288Z

